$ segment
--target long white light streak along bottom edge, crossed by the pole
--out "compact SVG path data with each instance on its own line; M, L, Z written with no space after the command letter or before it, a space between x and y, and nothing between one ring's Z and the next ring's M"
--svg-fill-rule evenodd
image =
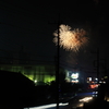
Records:
M66 105L69 105L69 102L59 104L59 106L66 106ZM50 104L50 105L45 105L45 106L32 107L29 109L48 109L48 108L53 108L56 106L57 106L57 104ZM28 109L28 108L24 108L24 109Z

